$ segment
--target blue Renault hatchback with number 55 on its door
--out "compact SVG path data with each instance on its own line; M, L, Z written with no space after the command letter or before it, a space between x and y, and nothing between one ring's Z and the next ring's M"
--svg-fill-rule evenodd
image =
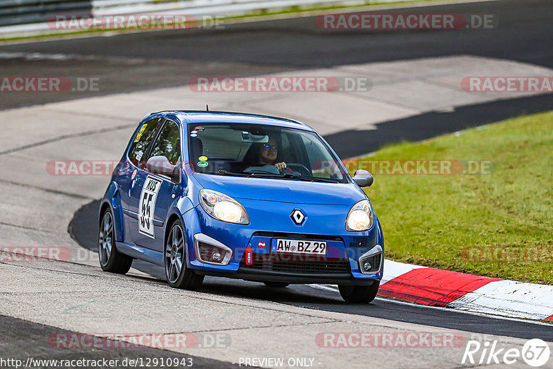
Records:
M133 259L165 267L171 287L204 276L286 287L339 286L368 303L384 237L360 187L306 124L263 115L162 111L144 117L100 203L99 256L125 274Z

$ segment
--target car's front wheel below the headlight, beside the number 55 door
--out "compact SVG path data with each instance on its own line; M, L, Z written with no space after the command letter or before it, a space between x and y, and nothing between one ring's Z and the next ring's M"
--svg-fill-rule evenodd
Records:
M165 241L165 276L171 287L198 290L203 277L186 267L187 242L180 220L175 220Z

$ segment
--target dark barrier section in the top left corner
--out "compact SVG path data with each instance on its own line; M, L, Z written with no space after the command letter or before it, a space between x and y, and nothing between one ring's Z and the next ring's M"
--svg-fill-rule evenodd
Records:
M91 13L91 0L0 0L0 26L40 23L57 14Z

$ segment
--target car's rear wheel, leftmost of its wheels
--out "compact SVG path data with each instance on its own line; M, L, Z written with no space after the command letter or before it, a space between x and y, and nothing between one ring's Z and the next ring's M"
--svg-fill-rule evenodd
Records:
M110 209L102 213L98 233L98 258L102 270L110 273L126 274L133 263L131 256L121 254L115 247L115 224Z

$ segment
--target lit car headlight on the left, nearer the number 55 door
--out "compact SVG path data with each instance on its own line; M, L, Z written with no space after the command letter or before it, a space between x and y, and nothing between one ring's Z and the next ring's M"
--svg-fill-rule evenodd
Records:
M227 223L250 224L250 217L240 202L224 193L203 189L200 204L210 216Z

